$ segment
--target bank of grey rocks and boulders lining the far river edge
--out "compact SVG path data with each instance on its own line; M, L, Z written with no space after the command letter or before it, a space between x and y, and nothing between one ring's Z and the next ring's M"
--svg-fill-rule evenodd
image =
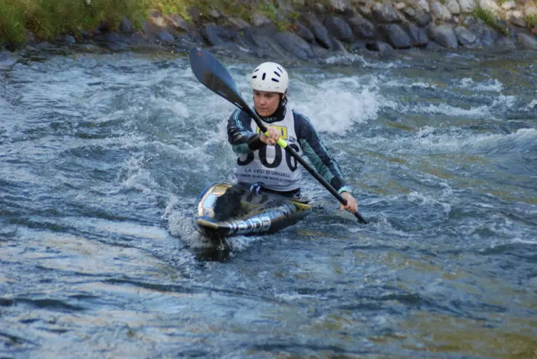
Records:
M537 50L537 6L533 0L278 0L248 19L216 4L190 6L187 16L152 10L141 28L124 17L65 44L96 42L115 47L158 45L185 50L194 45L238 46L263 57L301 60L333 52L436 49ZM188 19L188 20L187 20ZM36 42L32 34L29 43Z

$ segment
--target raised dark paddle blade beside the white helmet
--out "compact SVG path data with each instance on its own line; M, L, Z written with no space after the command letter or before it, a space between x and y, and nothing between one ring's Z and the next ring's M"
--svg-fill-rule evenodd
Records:
M213 55L199 47L192 47L190 49L190 67L199 82L215 94L222 96L242 110L248 108L233 78L231 78L231 74ZM248 110L250 109L248 108Z

